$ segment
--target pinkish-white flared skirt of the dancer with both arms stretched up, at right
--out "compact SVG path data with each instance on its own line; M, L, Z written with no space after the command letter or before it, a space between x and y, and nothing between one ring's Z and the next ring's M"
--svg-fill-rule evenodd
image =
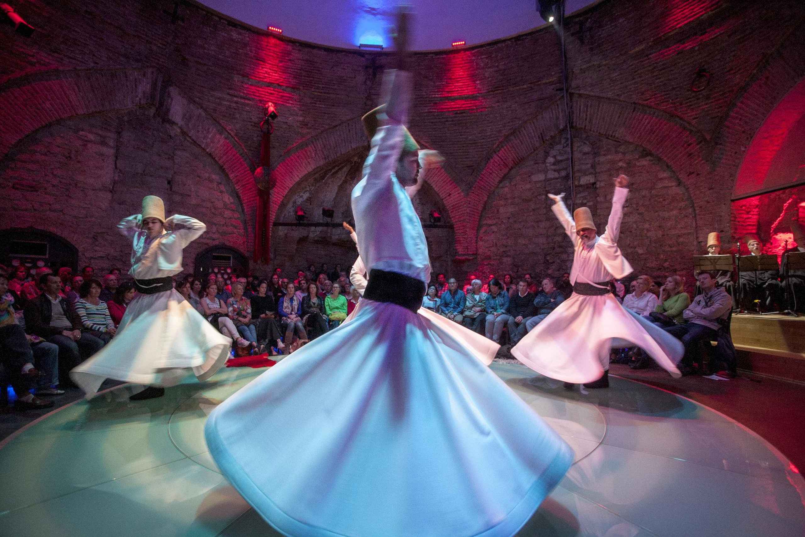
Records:
M667 370L681 374L682 342L621 306L614 295L577 295L551 312L511 349L526 366L564 382L593 382L609 366L609 350L637 346Z

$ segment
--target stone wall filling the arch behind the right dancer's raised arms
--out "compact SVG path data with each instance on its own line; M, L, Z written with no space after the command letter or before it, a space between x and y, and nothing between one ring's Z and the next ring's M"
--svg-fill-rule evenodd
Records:
M635 274L690 272L695 244L691 200L679 180L648 151L593 134L574 139L576 207L592 210L604 233L612 206L613 178L630 176L619 244ZM478 271L535 279L570 271L572 243L554 213L548 193L566 192L570 208L567 142L553 140L510 171L489 197L478 233Z

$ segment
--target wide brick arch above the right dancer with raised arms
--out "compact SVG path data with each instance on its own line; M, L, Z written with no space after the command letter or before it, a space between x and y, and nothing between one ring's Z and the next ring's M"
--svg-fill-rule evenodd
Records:
M580 130L600 134L621 142L643 147L667 163L685 189L694 213L698 237L696 203L690 185L708 170L701 155L704 135L670 114L644 105L584 94L573 95L573 125ZM564 111L559 101L514 130L497 147L481 169L468 196L464 229L471 233L456 237L459 257L477 253L477 229L486 200L506 174L534 151L564 129Z

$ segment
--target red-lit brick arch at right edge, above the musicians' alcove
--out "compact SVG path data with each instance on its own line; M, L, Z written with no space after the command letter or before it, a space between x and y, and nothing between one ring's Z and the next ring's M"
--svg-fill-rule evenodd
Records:
M725 170L725 178L737 181L741 164L749 156L750 143L774 108L805 78L805 21L789 35L753 72L737 92L720 129L713 138L713 166ZM733 190L730 188L730 192Z

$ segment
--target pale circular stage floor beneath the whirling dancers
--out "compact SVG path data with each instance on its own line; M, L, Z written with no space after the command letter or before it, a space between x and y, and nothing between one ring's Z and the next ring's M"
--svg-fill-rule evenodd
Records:
M805 534L803 477L733 419L622 378L582 394L532 383L517 364L492 369L576 452L518 535ZM224 370L140 403L127 399L139 386L119 386L31 423L0 444L0 534L279 535L217 472L203 436L209 412L264 371Z

